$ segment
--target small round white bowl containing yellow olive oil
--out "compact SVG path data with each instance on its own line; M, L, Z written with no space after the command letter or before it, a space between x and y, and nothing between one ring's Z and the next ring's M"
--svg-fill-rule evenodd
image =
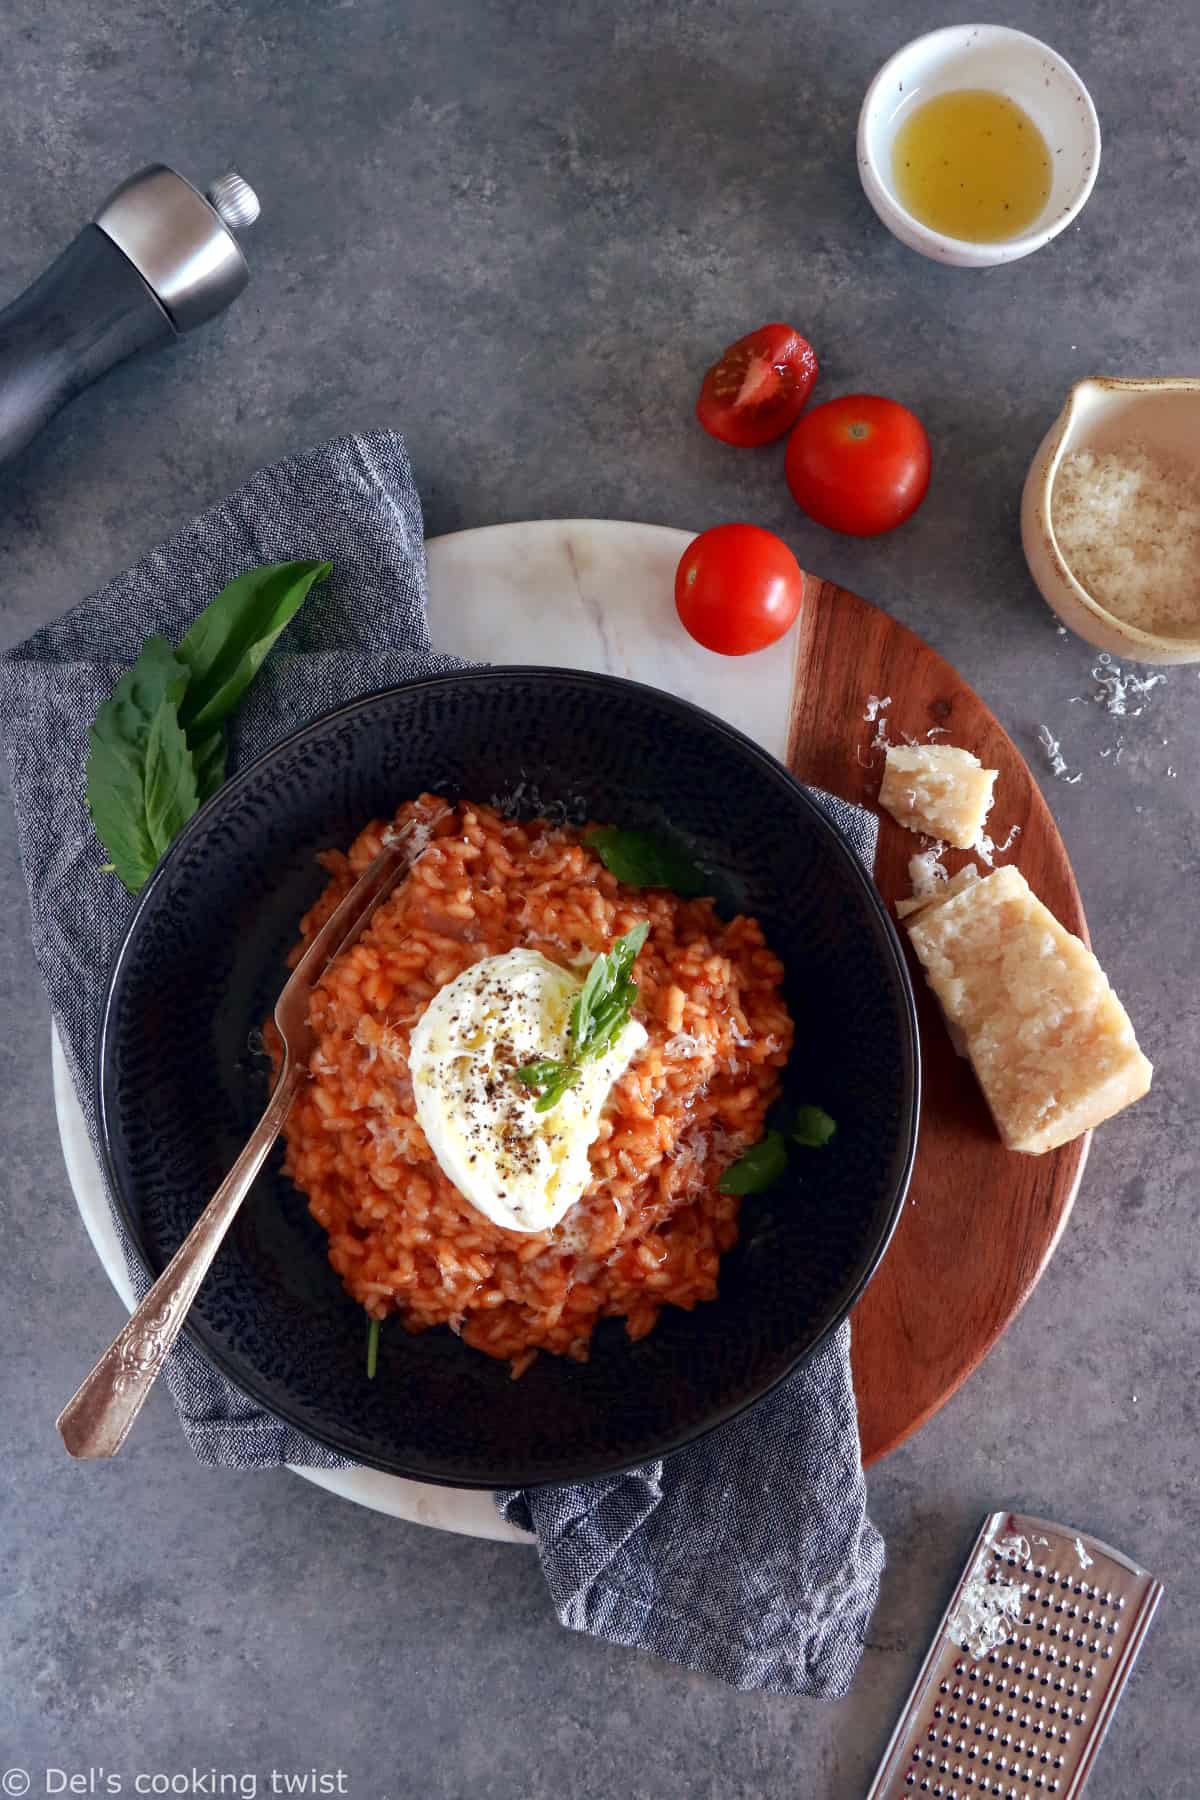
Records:
M898 200L892 180L896 131L914 106L955 88L990 88L1016 101L1051 146L1049 200L1020 238L968 243L921 225ZM883 63L858 113L858 175L887 229L910 250L959 268L1015 263L1056 238L1092 193L1099 167L1099 119L1070 63L1049 43L1007 25L945 25L914 38Z

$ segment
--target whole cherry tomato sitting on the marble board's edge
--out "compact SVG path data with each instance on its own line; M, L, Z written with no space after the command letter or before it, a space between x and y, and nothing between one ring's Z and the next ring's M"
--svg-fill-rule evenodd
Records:
M675 571L675 610L685 630L723 657L774 644L802 598L801 565L783 538L759 526L702 531Z

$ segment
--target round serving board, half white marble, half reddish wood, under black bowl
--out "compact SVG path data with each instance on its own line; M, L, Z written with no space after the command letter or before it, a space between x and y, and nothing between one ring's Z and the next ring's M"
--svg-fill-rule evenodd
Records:
M745 659L712 655L675 616L675 567L689 538L664 526L538 520L430 540L434 643L479 662L560 664L649 682L738 725L801 779L865 805L874 801L882 765L865 702L873 693L894 695L896 738L941 727L1000 770L1002 828L1020 824L1022 868L1063 923L1087 934L1061 839L1029 769L950 664L876 607L813 578L806 578L799 625L779 644ZM914 842L883 821L876 880L887 900L907 891ZM921 981L918 995L925 1098L912 1199L855 1312L865 1460L918 1429L1011 1321L1061 1233L1087 1154L1081 1139L1051 1157L1009 1156ZM79 1210L131 1305L58 1042L54 1091ZM401 1519L531 1543L500 1521L488 1494L367 1469L297 1472Z

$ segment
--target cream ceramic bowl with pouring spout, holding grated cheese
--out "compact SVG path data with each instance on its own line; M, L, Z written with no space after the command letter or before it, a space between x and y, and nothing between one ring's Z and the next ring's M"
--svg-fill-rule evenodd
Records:
M1097 650L1128 662L1200 662L1200 639L1160 637L1108 612L1074 578L1054 535L1054 477L1069 450L1121 450L1137 443L1200 473L1200 380L1150 376L1124 382L1097 374L1076 382L1067 405L1038 445L1020 497L1020 540L1029 574L1063 625Z

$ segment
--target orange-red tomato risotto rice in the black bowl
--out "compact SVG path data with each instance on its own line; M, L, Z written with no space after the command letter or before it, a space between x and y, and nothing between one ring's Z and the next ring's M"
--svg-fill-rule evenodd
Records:
M585 1361L596 1321L653 1330L664 1305L716 1296L738 1237L721 1172L763 1134L792 1048L783 967L752 918L709 900L624 887L574 828L516 823L423 794L396 824L434 837L358 943L313 990L311 1082L284 1127L284 1168L329 1233L329 1262L376 1318L448 1325L520 1375L538 1350ZM383 842L349 855L300 923L295 963ZM471 963L518 945L570 965L639 920L635 1017L649 1042L613 1084L590 1150L592 1183L565 1219L531 1235L495 1226L439 1168L417 1123L408 1040L428 1001Z

